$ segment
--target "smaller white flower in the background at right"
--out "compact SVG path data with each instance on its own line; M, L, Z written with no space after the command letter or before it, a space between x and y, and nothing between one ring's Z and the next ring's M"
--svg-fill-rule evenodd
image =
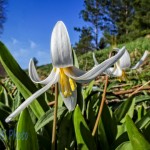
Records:
M114 49L115 51L120 51L118 48ZM140 65L143 64L143 62L146 60L147 56L149 55L149 51L145 51L141 59L137 62L137 64L134 67L131 67L131 59L130 55L127 50L125 50L125 53L122 55L122 57L114 64L114 67L108 68L104 74L107 74L109 76L113 77L119 77L120 80L123 80L126 78L125 70L126 69L137 69L140 67ZM95 66L98 65L98 62L96 60L95 54L93 53L93 61L95 63Z

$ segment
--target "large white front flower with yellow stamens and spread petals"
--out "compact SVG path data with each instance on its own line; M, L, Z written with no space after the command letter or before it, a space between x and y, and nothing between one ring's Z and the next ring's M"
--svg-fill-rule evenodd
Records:
M29 63L29 76L35 83L45 86L27 98L10 116L6 122L12 120L22 110L24 110L34 99L46 92L53 84L59 84L59 90L63 101L69 111L74 110L77 101L78 83L87 83L96 76L102 74L107 68L111 67L125 52L123 48L115 56L105 60L101 64L93 67L88 72L82 71L73 66L73 56L71 43L66 26L62 21L58 21L53 29L51 36L51 56L53 69L50 75L43 81L40 80L35 69L33 60Z

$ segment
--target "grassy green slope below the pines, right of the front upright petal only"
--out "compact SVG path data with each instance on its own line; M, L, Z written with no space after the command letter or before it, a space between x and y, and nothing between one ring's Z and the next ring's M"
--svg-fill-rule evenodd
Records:
M130 52L132 65L135 65L139 61L145 50L150 50L149 38L138 38L135 41L130 41L126 44L119 44L117 47L121 48L122 46L126 46L126 49ZM111 47L108 47L102 51L95 51L97 61L101 63L106 60L111 50ZM84 70L89 70L94 66L92 52L80 55L78 61L80 68ZM149 59L147 59L147 63L150 63ZM147 72L144 72L144 74L145 73Z

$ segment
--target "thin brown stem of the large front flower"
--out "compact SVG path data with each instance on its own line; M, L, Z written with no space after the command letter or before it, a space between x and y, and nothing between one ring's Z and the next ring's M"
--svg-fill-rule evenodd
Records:
M55 150L56 141L56 124L57 124L57 105L58 105L58 83L55 84L55 108L54 108L54 120L53 120L53 131L52 131L52 145L51 150Z

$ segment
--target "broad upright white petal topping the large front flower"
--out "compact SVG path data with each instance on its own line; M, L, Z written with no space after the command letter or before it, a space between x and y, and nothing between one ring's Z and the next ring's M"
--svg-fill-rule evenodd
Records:
M52 64L56 68L73 66L70 38L65 24L58 21L51 36Z

